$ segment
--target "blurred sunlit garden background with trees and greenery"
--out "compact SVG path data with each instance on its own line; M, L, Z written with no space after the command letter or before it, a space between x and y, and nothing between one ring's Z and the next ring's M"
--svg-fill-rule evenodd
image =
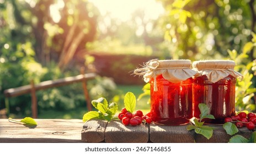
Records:
M126 92L143 94L132 75L150 59L230 59L244 75L236 109L255 112L256 3L254 0L0 0L0 113L31 116L31 96L4 90L67 76L88 80L91 99L121 109ZM38 118L86 113L81 83L36 91ZM136 108L148 111L148 95Z

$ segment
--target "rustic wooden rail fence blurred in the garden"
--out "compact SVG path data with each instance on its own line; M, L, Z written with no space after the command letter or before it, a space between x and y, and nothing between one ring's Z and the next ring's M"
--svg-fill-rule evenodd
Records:
M20 95L30 93L31 94L32 117L37 118L38 117L38 103L37 103L37 98L36 98L36 91L82 82L84 97L87 100L88 111L92 111L92 105L90 103L90 97L89 97L88 89L87 89L87 80L94 79L96 75L97 74L95 74L95 73L85 74L84 69L81 69L81 74L77 75L77 76L70 76L67 78L62 78L62 79L57 79L57 80L43 81L39 84L34 84L34 81L31 80L30 85L25 85L25 86L20 86L20 87L15 87L12 89L4 90L4 96L6 98L8 98L8 97L15 97L15 96L20 96ZM7 107L7 108L9 108L9 107ZM8 112L8 109L7 109L7 112Z

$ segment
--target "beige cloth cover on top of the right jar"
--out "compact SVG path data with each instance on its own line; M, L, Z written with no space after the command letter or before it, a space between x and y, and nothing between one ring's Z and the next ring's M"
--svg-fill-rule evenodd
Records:
M243 75L234 70L236 65L234 61L225 61L225 60L208 60L208 61L195 61L192 63L193 70L196 70L198 73L195 74L195 77L206 75L207 79L216 83L217 81L226 78L228 75L232 75L235 78L243 79Z

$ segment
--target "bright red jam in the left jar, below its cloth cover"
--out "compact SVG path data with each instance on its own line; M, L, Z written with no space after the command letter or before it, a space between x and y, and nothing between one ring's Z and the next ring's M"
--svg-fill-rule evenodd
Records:
M180 83L170 83L158 75L157 91L151 78L151 118L162 125L183 125L193 117L192 83L193 78Z

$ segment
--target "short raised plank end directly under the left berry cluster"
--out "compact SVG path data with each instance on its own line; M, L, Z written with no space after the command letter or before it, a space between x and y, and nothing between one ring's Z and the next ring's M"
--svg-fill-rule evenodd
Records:
M106 143L146 143L148 139L148 125L125 126L120 120L114 120L106 126Z

